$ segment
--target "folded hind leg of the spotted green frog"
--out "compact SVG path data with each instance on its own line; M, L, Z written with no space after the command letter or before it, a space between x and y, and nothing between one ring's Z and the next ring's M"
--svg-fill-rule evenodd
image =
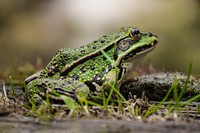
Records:
M36 104L44 100L61 104L63 96L78 101L78 96L87 98L89 95L88 86L74 79L38 78L29 82L25 91L29 101Z

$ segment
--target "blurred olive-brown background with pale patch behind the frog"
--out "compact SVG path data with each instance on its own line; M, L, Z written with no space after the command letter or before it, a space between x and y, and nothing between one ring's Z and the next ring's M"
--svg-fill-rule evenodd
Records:
M0 0L0 73L45 66L56 51L76 48L122 26L159 37L146 56L156 69L200 74L199 0Z

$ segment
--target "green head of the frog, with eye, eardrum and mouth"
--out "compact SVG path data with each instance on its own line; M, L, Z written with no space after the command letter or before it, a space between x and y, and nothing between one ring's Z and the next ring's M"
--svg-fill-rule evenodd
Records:
M156 35L150 32L141 33L137 28L121 28L119 34L124 34L124 37L116 44L114 58L117 65L126 62L135 63L152 51L158 42Z

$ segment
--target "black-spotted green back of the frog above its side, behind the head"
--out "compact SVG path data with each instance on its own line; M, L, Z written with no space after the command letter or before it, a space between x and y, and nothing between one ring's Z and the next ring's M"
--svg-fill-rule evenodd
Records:
M119 33L113 33L104 35L98 40L92 41L87 45L81 46L80 48L59 49L46 68L41 71L40 77L60 77L62 75L62 71L65 71L66 68L71 68L71 66L76 62L81 64L81 62L83 63L85 60L88 60L84 59L85 57L92 59L94 57L93 54L98 54L100 49L112 44L118 37ZM67 76L67 74L65 74L65 76Z

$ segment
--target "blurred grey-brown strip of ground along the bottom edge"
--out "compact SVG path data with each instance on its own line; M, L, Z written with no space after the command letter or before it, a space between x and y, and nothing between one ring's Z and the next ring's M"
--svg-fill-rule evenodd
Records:
M142 121L124 120L68 120L53 122L35 122L30 118L13 119L12 117L0 117L0 129L3 133L199 133L199 123L186 123L164 121L145 123Z

